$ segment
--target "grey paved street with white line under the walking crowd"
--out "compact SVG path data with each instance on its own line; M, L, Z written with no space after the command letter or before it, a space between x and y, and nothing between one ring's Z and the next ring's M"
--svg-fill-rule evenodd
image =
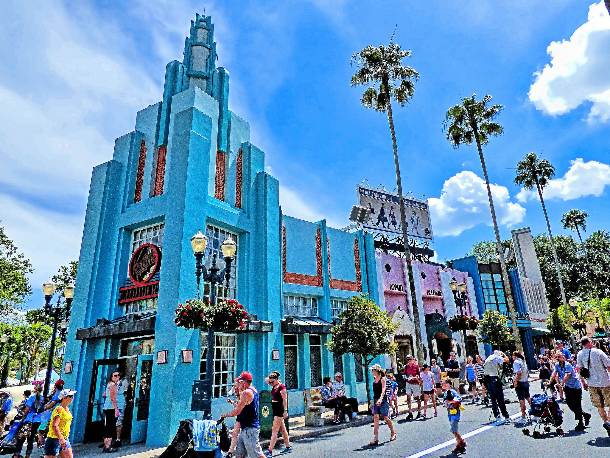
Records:
M531 383L533 393L540 392L537 382ZM536 390L537 388L537 390ZM516 396L511 391L505 391L506 396L516 401ZM587 393L583 395L583 409L592 413L591 423L586 431L571 431L574 426L572 412L567 405L561 404L565 409L563 437L556 437L554 429L550 434L543 434L541 438L533 438L522 434L522 428L516 424L501 424L488 421L490 407L479 407L478 405L466 405L462 412L460 421L460 432L468 442L467 456L497 458L516 456L553 456L559 457L608 457L610 454L610 437L605 429L601 427L601 420L597 409L592 407ZM509 414L519 412L519 404L514 402L508 406ZM443 409L444 410L444 409ZM430 416L428 411L428 417ZM512 415L516 421L520 415ZM389 429L385 424L379 427L379 445L371 447L368 442L373 438L373 425L344 429L342 431L307 438L293 443L293 449L298 457L318 458L320 456L332 456L336 458L354 456L394 456L418 458L455 456L451 450L455 446L453 435L449 432L446 410L439 409L437 418L426 418L426 420L404 421L399 417L394 422L397 427L398 438L395 442L388 442L390 438ZM482 426L490 426L485 431L480 431ZM478 432L480 431L480 432ZM471 437L467 433L473 432ZM451 442L442 448L443 442ZM432 450L428 450L432 448ZM515 453L516 450L516 453ZM525 451L529 451L524 455Z

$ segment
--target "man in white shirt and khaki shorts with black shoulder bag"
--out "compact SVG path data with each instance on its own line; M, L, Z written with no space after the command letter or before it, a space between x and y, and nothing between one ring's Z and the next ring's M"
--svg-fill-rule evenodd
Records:
M600 349L593 347L589 337L580 340L583 349L576 355L576 372L583 388L589 390L591 404L597 407L601 421L610 436L610 358ZM583 368L588 369L589 377L583 377ZM586 371L585 371L586 372ZM606 413L605 407L609 407Z

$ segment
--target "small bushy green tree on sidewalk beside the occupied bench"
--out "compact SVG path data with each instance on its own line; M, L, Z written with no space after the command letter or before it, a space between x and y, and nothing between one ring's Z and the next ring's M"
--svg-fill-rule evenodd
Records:
M389 335L394 333L397 325L392 324L392 319L379 309L368 297L368 293L353 296L345 310L339 314L339 319L341 324L332 327L332 340L326 346L337 355L354 355L356 363L364 369L367 400L370 402L368 365L376 357L392 355L398 350L398 344L392 344L389 340Z

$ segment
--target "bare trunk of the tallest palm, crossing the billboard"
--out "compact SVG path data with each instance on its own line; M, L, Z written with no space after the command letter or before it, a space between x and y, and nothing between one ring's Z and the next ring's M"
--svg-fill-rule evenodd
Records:
M426 358L423 354L422 327L417 308L417 296L415 294L415 280L413 278L413 267L411 266L411 252L409 251L409 239L407 239L407 217L404 214L403 205L403 182L400 178L400 165L398 165L398 147L396 146L396 133L394 131L394 118L392 117L392 103L390 103L389 82L384 81L384 93L386 94L387 121L390 124L392 134L392 146L394 148L394 165L396 167L396 181L398 184L398 208L400 208L400 222L403 225L404 258L407 264L407 275L409 276L409 290L411 291L411 305L413 310L413 324L415 328L415 352L417 360L424 362Z

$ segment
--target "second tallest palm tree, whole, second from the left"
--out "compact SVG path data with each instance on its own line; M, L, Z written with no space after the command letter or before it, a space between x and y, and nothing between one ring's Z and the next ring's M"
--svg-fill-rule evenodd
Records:
M523 344L521 343L521 335L517 327L517 309L515 302L512 299L511 281L506 270L506 261L502 252L502 241L500 240L500 231L498 230L498 220L493 208L492 191L489 186L489 176L487 176L487 167L485 158L483 157L483 148L481 145L489 143L489 137L499 136L504 132L504 128L498 123L492 122L503 110L501 105L487 106L487 102L492 96L486 95L483 100L477 101L476 94L472 97L462 98L462 103L451 107L447 111L447 118L443 122L443 126L447 127L447 140L454 148L459 145L472 145L472 140L475 140L476 147L479 150L479 159L481 159L481 167L483 167L483 176L487 186L487 198L489 198L489 209L492 213L493 231L495 232L496 245L498 247L498 260L502 271L502 280L504 282L504 294L506 294L506 305L511 316L512 335L515 338L515 347L523 353Z

